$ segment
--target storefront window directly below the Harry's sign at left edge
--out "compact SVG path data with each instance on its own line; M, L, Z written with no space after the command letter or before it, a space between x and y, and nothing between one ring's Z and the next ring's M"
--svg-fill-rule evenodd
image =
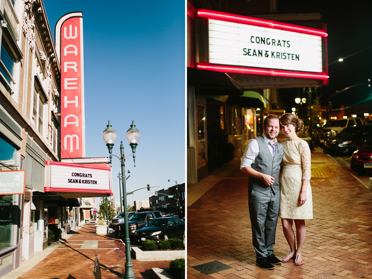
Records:
M14 246L16 195L0 196L0 250Z

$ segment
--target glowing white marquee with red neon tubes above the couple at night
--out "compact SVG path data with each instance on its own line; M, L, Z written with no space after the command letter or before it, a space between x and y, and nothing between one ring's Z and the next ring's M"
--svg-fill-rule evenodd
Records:
M208 61L197 67L223 72L326 80L324 30L197 10L208 18Z

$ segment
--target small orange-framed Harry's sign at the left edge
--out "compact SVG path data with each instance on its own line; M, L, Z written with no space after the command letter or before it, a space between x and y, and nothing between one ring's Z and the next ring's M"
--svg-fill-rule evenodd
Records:
M0 171L0 196L25 194L26 170Z

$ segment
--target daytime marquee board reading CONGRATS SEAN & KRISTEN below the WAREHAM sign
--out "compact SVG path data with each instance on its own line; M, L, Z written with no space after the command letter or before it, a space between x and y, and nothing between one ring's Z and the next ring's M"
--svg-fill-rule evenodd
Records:
M112 193L111 168L45 162L45 192Z

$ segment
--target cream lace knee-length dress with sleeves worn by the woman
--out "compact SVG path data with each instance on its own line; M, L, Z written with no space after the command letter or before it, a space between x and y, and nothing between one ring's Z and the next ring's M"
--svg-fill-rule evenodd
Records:
M311 152L309 144L304 140L281 141L284 150L281 177L280 218L313 219L313 198L311 195ZM302 179L309 180L307 200L299 206Z

